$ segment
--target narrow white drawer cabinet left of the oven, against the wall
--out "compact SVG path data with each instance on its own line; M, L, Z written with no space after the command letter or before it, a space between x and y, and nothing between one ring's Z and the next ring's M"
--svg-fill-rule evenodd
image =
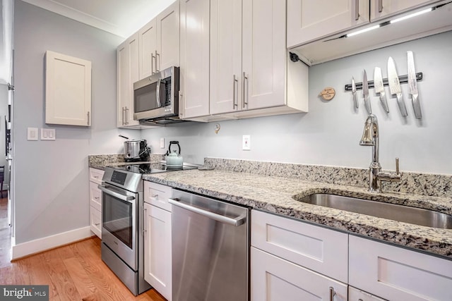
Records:
M104 171L90 168L90 230L102 239L102 192L97 185L102 183Z

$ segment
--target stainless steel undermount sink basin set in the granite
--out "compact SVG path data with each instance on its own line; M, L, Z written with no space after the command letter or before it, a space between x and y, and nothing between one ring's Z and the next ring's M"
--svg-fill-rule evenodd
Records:
M404 223L413 223L432 228L452 229L451 215L429 209L322 193L308 195L297 200L308 204L367 214L383 219L392 219L393 221L403 221Z

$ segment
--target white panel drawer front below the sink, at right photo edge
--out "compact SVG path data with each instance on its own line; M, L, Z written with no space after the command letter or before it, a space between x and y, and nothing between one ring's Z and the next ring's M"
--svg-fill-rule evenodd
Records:
M452 300L452 261L350 235L350 285L388 300Z

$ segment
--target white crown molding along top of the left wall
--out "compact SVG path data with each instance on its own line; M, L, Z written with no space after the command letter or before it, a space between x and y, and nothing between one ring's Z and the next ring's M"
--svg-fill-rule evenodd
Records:
M106 32L110 32L113 35L117 35L119 37L126 37L124 35L124 30L121 30L118 25L107 22L106 20L102 20L95 16L91 16L88 13L83 13L83 11L78 11L69 6L65 6L64 4L59 4L58 2L52 0L22 0L27 2L28 4L32 4L34 6L38 6L40 8L44 8L47 11L52 11L52 13L57 13L61 16L65 16L66 18L71 18L72 20L76 20L81 23L85 23L87 25L99 28L100 30L105 30Z

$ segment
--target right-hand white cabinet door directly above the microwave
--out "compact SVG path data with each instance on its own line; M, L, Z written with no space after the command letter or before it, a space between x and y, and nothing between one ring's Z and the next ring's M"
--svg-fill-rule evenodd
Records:
M158 70L179 67L179 1L157 16L157 65Z

